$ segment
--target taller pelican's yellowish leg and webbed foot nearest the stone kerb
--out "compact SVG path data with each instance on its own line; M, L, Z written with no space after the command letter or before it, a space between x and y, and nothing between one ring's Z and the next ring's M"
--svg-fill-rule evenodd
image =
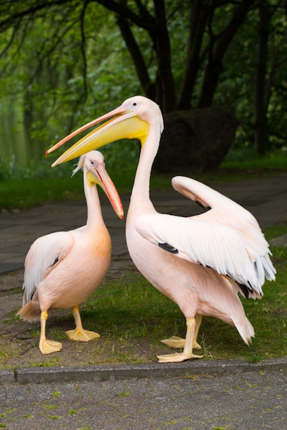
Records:
M187 318L187 336L185 338L184 350L180 354L158 355L159 363L177 363L189 359L202 359L203 355L193 354L193 339L195 337L195 318Z

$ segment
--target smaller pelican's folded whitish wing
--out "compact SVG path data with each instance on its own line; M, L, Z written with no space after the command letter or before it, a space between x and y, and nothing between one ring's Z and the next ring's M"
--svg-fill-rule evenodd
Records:
M23 305L32 299L37 286L72 248L74 238L68 231L47 234L36 239L25 258Z

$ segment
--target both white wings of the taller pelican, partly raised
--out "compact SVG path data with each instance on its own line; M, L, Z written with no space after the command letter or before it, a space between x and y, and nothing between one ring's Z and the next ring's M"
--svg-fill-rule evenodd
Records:
M149 214L136 218L136 230L157 245L178 250L178 258L211 267L262 296L265 277L275 279L268 242L255 217L228 197L187 177L175 177L173 188L200 203L204 214L183 218ZM176 252L176 251L174 251ZM252 294L251 294L252 297Z

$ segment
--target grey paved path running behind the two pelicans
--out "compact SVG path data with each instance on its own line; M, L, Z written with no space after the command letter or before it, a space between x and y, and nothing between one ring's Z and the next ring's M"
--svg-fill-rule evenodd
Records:
M213 185L217 191L249 210L264 228L287 222L287 174L277 177ZM159 212L190 216L198 214L198 205L172 188L168 192L151 192L151 200ZM116 217L103 196L103 216L113 244L114 262L130 262L125 245L125 221ZM129 197L123 196L125 214ZM32 242L43 234L74 229L86 222L85 203L45 205L13 214L0 214L0 273L23 267ZM113 265L113 264L112 264Z

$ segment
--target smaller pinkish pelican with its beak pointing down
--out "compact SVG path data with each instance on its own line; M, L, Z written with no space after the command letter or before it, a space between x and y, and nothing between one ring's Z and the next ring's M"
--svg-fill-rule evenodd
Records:
M25 258L23 307L17 315L41 321L39 349L43 354L61 351L62 343L46 339L45 325L50 308L72 308L76 323L67 336L90 341L98 333L84 330L79 304L100 285L111 260L111 239L100 210L96 185L107 194L116 214L123 219L123 205L111 181L103 155L92 150L82 155L73 171L83 169L87 224L71 231L58 231L36 239Z

